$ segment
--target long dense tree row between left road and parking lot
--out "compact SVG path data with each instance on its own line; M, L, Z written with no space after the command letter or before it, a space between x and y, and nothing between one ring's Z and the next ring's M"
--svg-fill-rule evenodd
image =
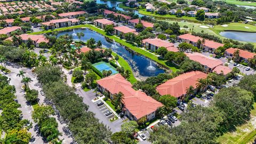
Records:
M48 69L48 73L39 75L44 73L44 69ZM57 72L58 69L58 67L42 66L36 73L39 82L44 84L46 98L54 103L62 118L68 122L75 141L78 143L109 142L110 130L100 123L91 111L87 111L88 106L83 103L83 99L75 93L74 89L60 81L62 73L60 70Z

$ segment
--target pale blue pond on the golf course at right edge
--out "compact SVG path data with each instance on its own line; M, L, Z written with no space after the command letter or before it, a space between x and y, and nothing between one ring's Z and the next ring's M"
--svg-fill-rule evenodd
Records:
M223 31L220 32L220 35L237 41L256 43L256 33L249 33L244 31Z

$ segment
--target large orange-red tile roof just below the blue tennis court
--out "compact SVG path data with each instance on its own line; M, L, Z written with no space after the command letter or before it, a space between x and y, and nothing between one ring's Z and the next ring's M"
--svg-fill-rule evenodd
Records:
M132 89L132 84L126 81L121 74L105 77L97 83L111 94L122 92L125 108L137 119L153 113L157 108L163 106L161 102L149 97L146 93Z

